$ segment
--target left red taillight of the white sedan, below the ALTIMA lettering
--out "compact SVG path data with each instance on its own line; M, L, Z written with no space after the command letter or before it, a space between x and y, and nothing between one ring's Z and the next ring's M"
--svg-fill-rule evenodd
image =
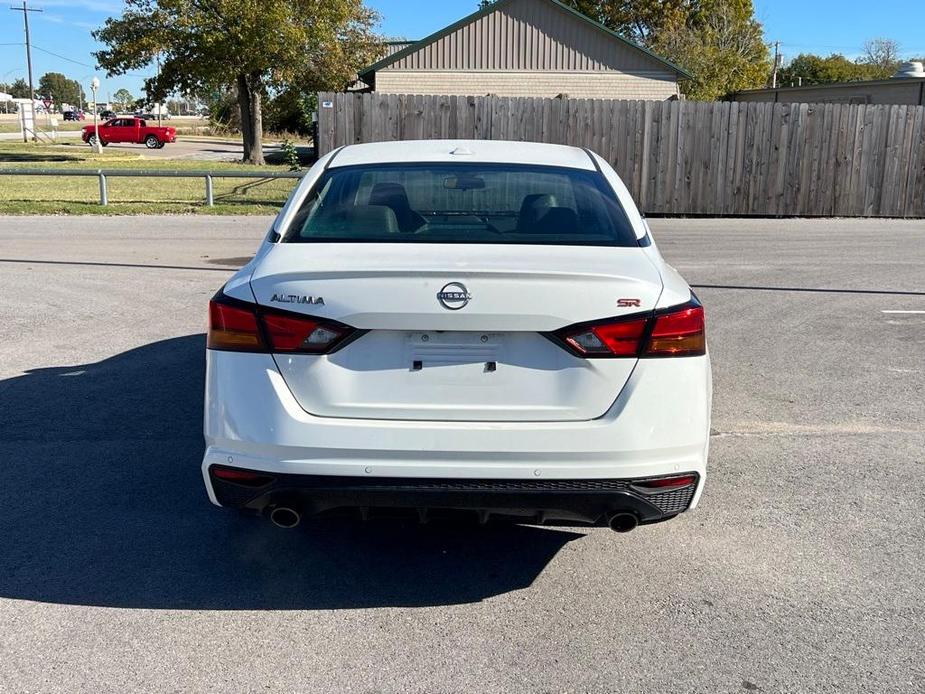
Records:
M355 333L341 323L218 298L209 302L206 346L234 352L326 354Z

